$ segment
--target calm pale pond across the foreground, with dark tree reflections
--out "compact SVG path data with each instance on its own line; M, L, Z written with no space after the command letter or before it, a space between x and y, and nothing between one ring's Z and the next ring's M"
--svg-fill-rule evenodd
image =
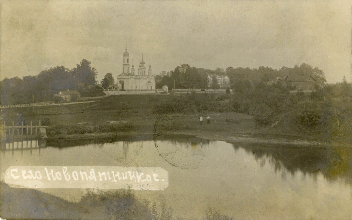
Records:
M166 207L174 219L203 219L209 208L232 219L352 217L351 148L230 144L191 136L156 141L147 137L33 140L30 145L31 141L24 141L2 148L2 182L9 166L161 167L169 173L166 189L133 193L149 201L150 209L153 204L158 211ZM87 193L84 189L40 191L74 203Z

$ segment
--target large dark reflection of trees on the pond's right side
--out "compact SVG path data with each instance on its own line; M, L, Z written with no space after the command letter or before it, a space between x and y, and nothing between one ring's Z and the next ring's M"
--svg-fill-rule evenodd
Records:
M238 149L238 144L233 144ZM295 175L297 171L313 177L322 173L328 180L343 178L352 181L352 148L320 147L294 145L242 145L249 155L253 155L260 166L269 162L275 172L288 172ZM284 177L284 174L283 174Z

